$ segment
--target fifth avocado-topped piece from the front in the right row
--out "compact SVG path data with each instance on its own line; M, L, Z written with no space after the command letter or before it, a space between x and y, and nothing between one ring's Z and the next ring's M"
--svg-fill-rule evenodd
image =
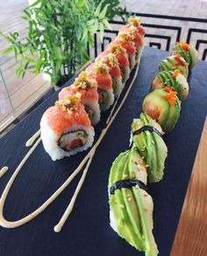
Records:
M168 56L161 61L159 65L160 71L179 69L182 75L186 78L189 76L189 64L182 58L181 55Z

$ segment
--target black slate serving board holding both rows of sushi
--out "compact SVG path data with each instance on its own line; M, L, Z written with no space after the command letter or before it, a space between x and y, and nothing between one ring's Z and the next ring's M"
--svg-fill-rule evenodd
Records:
M1 256L125 256L144 255L128 245L109 225L108 176L111 164L129 144L132 119L139 117L141 102L149 91L159 62L168 52L145 48L139 74L125 106L96 150L89 173L78 195L74 211L61 233L54 232L80 179L70 186L38 217L16 229L0 227ZM207 63L198 62L189 75L189 98L182 104L181 118L175 129L164 137L168 159L164 179L148 186L153 196L153 234L161 256L169 255L182 204L189 183L196 150L207 113ZM57 99L54 93L10 133L0 140L0 166L10 170L0 179L0 194L28 149L27 139L39 128L42 113ZM101 124L102 125L102 124ZM99 125L100 129L100 125ZM4 208L8 220L31 213L61 186L78 165L84 153L53 162L42 144L19 173Z

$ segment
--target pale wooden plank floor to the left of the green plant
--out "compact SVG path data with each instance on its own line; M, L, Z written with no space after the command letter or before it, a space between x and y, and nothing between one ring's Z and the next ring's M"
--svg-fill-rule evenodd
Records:
M0 6L0 30L4 33L18 32L21 37L26 36L27 24L20 17L23 10L28 6L28 2L25 0L0 0ZM0 37L0 52L7 46L8 43ZM16 77L16 67L17 63L13 54L0 56L0 69L4 77L4 81L0 77L0 131L7 121L18 117L32 106L50 86L48 82L43 80L41 74L34 76L31 72L27 72L24 78ZM4 82L11 96L15 116L12 113L10 101L4 89Z

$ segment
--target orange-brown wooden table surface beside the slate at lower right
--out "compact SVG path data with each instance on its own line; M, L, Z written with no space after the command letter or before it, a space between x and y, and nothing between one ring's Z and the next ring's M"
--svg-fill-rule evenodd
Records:
M207 255L207 119L171 252L180 255Z

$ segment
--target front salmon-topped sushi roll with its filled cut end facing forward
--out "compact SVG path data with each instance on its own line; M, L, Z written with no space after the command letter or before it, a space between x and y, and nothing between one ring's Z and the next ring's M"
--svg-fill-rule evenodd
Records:
M78 92L49 107L41 118L40 130L44 148L54 161L89 149L95 135Z

